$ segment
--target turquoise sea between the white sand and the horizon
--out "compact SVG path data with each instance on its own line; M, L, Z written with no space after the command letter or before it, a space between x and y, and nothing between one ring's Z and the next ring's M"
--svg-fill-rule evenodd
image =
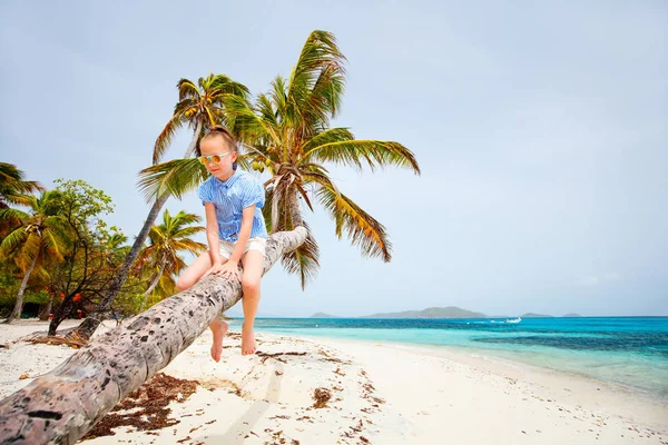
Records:
M258 332L465 348L668 399L668 317L261 318Z

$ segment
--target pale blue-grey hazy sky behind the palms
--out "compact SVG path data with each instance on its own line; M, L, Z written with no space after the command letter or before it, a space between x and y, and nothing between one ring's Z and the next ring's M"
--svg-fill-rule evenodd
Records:
M302 290L274 267L259 316L668 315L664 1L0 1L0 161L102 189L132 239L177 81L267 91L315 29L347 58L333 125L403 144L422 175L330 166L392 261L307 210L321 271ZM166 208L204 216L195 194Z

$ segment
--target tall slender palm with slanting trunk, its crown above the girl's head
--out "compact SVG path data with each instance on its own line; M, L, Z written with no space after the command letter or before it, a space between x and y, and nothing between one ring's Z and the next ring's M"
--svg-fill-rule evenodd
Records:
M206 128L218 123L226 123L224 113L225 99L229 96L238 96L245 99L248 95L248 89L244 85L235 82L224 75L209 75L206 78L199 78L197 85L191 80L180 79L177 88L179 100L174 107L171 118L156 139L153 152L154 164L163 158L173 136L184 126L193 128L193 139L184 155L184 158L188 159L195 152L197 141L202 138L203 131ZM127 280L130 267L141 251L148 233L169 196L169 190L160 190L155 196L155 201L139 235L135 238L135 243L117 271L109 290L98 305L98 313L86 318L81 325L69 334L70 338L86 342L97 329L102 317L101 314L111 307L114 299Z

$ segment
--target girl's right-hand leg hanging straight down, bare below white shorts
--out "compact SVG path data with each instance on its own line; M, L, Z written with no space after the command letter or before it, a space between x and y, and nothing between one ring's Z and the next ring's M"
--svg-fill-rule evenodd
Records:
M248 250L243 259L244 275L242 276L242 287L244 297L242 305L244 307L244 326L242 327L242 355L255 354L255 315L259 305L259 279L264 267L264 255L257 250Z

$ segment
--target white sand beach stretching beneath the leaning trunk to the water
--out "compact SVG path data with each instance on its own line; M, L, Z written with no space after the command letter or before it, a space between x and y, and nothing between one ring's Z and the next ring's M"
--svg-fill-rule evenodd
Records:
M11 343L39 329L0 326L0 397L76 352ZM197 382L169 404L169 426L126 425L81 443L668 444L666 406L574 375L451 348L267 334L245 357L235 333L215 363L210 340L207 330L164 369Z

